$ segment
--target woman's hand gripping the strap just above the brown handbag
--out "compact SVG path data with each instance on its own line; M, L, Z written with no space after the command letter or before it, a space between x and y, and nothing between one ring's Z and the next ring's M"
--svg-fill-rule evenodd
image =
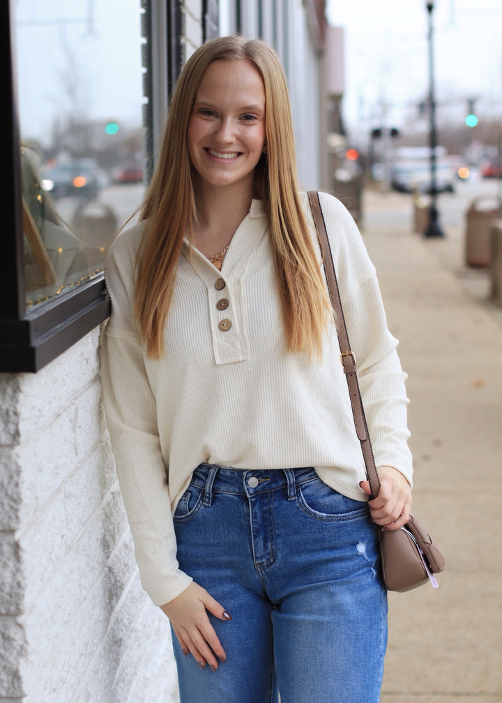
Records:
M408 522L411 510L411 487L408 481L392 466L379 466L380 491L378 496L369 501L371 520L385 529L394 530ZM359 484L363 491L371 496L368 481Z

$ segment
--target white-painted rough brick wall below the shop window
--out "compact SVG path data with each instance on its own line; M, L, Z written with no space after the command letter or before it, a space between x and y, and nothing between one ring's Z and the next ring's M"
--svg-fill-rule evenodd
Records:
M0 701L170 703L101 413L98 330L0 375Z

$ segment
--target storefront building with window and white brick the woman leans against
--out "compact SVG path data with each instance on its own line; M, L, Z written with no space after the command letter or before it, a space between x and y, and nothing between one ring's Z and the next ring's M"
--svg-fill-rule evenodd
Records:
M302 184L323 185L324 7L70 5L0 11L12 108L0 137L0 701L168 703L169 626L139 583L101 410L106 243L141 200L181 65L217 34L276 47Z

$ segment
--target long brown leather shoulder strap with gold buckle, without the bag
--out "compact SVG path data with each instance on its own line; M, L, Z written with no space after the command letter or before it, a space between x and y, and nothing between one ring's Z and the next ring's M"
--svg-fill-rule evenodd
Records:
M349 387L354 425L356 426L357 437L361 442L361 450L366 466L366 476L370 482L371 494L373 498L375 498L378 496L378 491L380 491L380 480L378 479L378 472L375 466L375 458L373 456L368 425L366 424L366 416L364 415L363 401L361 399L361 391L359 390L359 382L357 380L356 358L350 348L347 325L345 324L342 301L340 299L340 291L338 290L335 264L333 263L333 254L331 252L328 233L326 232L326 223L324 221L321 202L319 202L319 194L317 191L309 191L309 203L314 217L319 243L321 244L321 250L323 252L323 266L326 273L330 301L335 313L335 324L338 342L340 344L340 361L342 362L345 378L347 378L347 385Z

